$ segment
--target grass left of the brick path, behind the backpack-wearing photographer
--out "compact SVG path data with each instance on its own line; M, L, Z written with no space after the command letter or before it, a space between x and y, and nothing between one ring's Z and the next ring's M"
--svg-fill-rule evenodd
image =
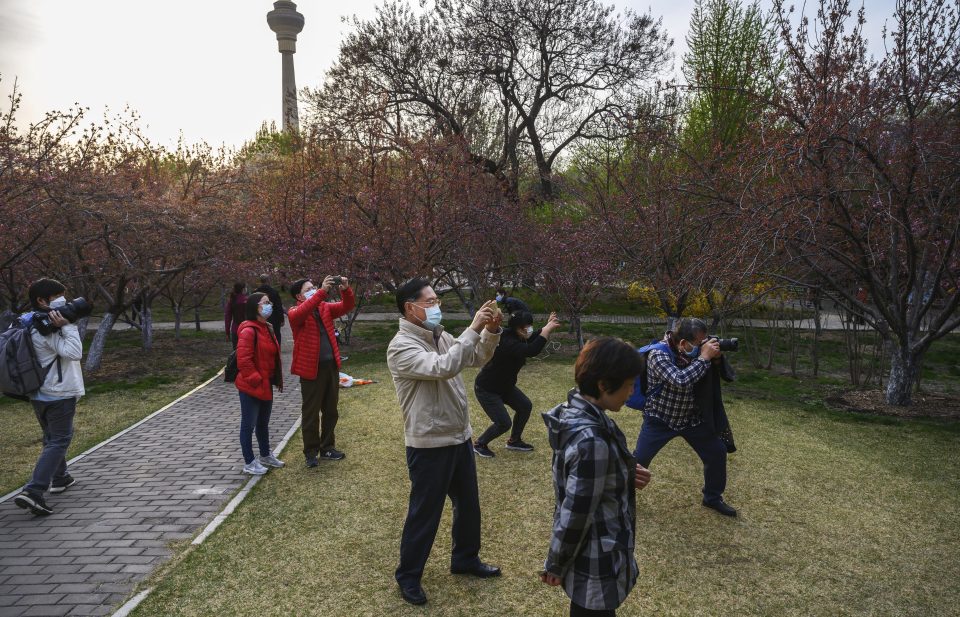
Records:
M88 331L84 346L89 346ZM139 332L111 333L102 369L84 375L86 396L77 405L73 457L150 415L203 383L223 366L230 343L211 332L154 332L154 348L144 352ZM85 352L86 354L86 352ZM84 356L86 357L86 355ZM29 403L0 397L0 494L24 484L42 447L42 435Z

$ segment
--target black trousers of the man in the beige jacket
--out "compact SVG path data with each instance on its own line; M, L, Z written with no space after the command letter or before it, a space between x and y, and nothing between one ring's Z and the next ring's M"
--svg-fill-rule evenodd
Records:
M480 494L473 445L407 447L410 505L400 538L401 587L419 585L437 536L447 497L453 503L453 554L450 567L466 570L480 563Z

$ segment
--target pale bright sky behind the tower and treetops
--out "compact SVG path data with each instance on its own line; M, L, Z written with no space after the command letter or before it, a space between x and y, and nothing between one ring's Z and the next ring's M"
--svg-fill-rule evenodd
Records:
M867 36L882 52L894 0L864 0ZM796 0L802 4L803 0ZM769 6L770 0L763 0ZM813 4L812 0L808 4ZM336 59L349 15L370 17L377 0L303 0L297 86L315 86ZM620 0L619 8L663 17L677 63L694 0ZM173 144L238 146L264 121L280 119L280 54L264 0L0 0L0 94L14 78L21 123L74 103L105 110L130 106L147 135Z

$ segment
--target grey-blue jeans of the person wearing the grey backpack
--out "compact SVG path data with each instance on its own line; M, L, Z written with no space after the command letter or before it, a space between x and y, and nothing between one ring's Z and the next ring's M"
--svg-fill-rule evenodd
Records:
M52 480L67 475L67 448L73 440L73 416L77 413L77 399L58 401L31 401L33 413L43 430L43 450L33 468L33 477L24 490L43 496Z

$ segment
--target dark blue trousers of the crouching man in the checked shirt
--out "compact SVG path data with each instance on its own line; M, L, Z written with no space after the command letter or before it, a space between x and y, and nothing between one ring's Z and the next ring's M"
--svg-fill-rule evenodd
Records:
M703 501L720 501L727 488L727 446L703 422L675 431L665 422L644 416L633 456L644 467L650 467L653 457L674 437L683 437L703 461Z

